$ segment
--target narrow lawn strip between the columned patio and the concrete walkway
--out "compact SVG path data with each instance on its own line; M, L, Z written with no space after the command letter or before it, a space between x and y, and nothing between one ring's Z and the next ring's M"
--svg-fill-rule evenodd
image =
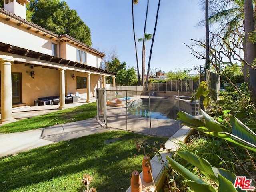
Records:
M93 118L97 115L96 102L35 116L0 126L0 133L14 133Z

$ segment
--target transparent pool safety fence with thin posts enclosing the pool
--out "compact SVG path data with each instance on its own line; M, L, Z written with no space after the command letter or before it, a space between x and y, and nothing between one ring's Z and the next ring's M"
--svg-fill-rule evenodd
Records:
M190 100L192 92L192 82L180 81L174 84L172 85L171 82L170 84L150 84L148 87L98 89L97 118L106 128L170 137L180 128L175 120L180 107L179 97ZM168 91L167 89L171 86L175 90ZM189 91L182 92L185 89Z

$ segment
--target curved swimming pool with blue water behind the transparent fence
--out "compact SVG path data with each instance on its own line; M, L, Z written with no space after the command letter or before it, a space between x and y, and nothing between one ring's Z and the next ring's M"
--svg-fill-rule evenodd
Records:
M144 118L151 116L152 119L174 119L178 112L174 102L165 98L142 98L129 103L127 107L130 114Z

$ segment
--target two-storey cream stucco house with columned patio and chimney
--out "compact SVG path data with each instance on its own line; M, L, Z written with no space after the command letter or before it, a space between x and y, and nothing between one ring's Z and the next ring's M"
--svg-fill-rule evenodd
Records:
M59 96L65 108L68 93L79 93L87 102L105 86L103 53L68 34L57 35L26 20L30 0L4 0L0 8L0 124L15 121L12 107L34 105L38 98Z

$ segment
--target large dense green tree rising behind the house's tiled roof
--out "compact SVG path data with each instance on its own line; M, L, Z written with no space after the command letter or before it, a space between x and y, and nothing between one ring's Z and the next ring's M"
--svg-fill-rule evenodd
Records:
M28 21L58 35L68 34L88 46L92 45L90 28L65 1L31 0L26 17Z

